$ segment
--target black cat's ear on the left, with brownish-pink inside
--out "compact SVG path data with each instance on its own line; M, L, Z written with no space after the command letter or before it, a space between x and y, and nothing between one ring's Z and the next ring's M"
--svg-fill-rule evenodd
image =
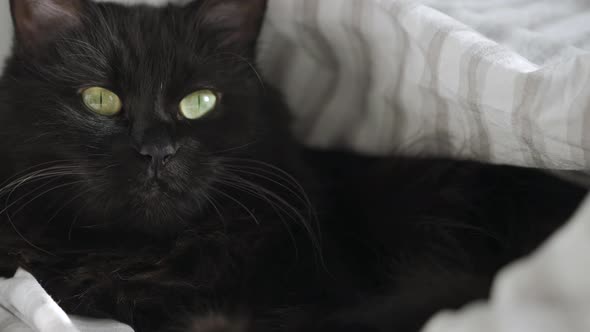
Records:
M36 47L80 24L85 0L10 0L19 46Z

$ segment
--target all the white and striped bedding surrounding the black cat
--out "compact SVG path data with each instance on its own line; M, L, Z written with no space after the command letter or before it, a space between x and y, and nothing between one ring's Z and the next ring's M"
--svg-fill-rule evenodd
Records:
M260 64L285 93L301 139L377 154L590 169L589 1L422 3L270 0ZM9 22L0 22L6 38ZM425 332L590 331L589 244L584 207L499 276L490 303L441 314ZM14 295L15 285L24 293ZM24 272L2 289L0 330L76 331ZM113 331L105 324L97 326Z

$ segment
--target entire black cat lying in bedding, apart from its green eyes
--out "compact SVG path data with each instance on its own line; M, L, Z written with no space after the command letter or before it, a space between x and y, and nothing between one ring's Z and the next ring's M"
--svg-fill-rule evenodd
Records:
M11 4L0 271L31 271L69 313L140 332L416 331L485 296L585 193L534 171L301 151L253 70L260 0ZM97 86L120 113L85 107ZM203 89L219 103L188 120L179 102Z

